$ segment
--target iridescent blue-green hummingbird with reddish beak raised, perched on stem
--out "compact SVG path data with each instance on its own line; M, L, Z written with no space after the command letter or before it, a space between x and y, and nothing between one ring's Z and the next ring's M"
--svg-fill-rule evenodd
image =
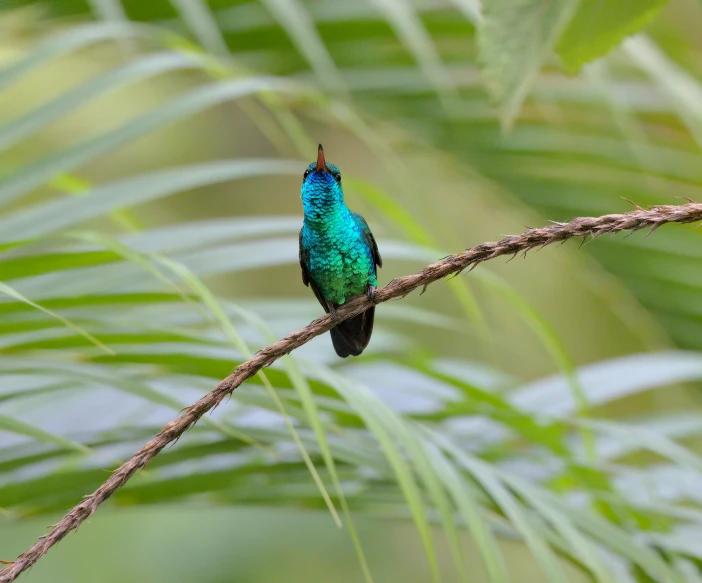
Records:
M324 159L319 144L317 161L305 170L300 189L304 220L300 230L302 283L312 288L324 311L336 319L336 309L352 298L375 294L376 267L383 260L366 220L344 202L341 172ZM339 322L330 330L336 353L358 356L370 341L375 306Z

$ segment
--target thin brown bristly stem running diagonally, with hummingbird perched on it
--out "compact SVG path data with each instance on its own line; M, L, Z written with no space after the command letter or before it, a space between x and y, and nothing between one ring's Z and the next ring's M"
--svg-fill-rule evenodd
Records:
M482 243L462 253L449 255L438 263L425 267L413 275L393 279L388 285L379 289L370 300L361 297L339 308L337 321L346 320L360 314L371 305L381 304L388 300L403 298L411 291L426 287L448 275L458 274L467 268L473 268L483 261L503 255L526 253L535 247L544 247L557 241L565 241L573 237L597 238L606 233L619 231L638 231L649 229L654 231L666 223L694 223L702 221L702 204L678 206L654 206L650 209L637 210L621 215L605 215L602 217L580 217L568 223L554 223L547 227L529 229L521 235L505 237L496 243ZM18 559L0 571L0 583L14 581L23 571L30 568L46 552L58 543L69 532L78 528L90 517L112 494L124 486L127 481L141 468L145 467L169 443L179 439L190 427L208 411L214 409L222 399L230 395L243 382L250 379L261 369L270 366L276 360L296 348L306 344L315 336L327 332L333 327L331 318L325 315L305 328L289 334L275 344L271 344L258 352L253 358L240 364L232 374L217 385L199 401L185 409L181 415L166 425L151 441L146 443L127 462L120 466L110 478L95 492L85 496L83 501L73 507L51 531L42 536Z

